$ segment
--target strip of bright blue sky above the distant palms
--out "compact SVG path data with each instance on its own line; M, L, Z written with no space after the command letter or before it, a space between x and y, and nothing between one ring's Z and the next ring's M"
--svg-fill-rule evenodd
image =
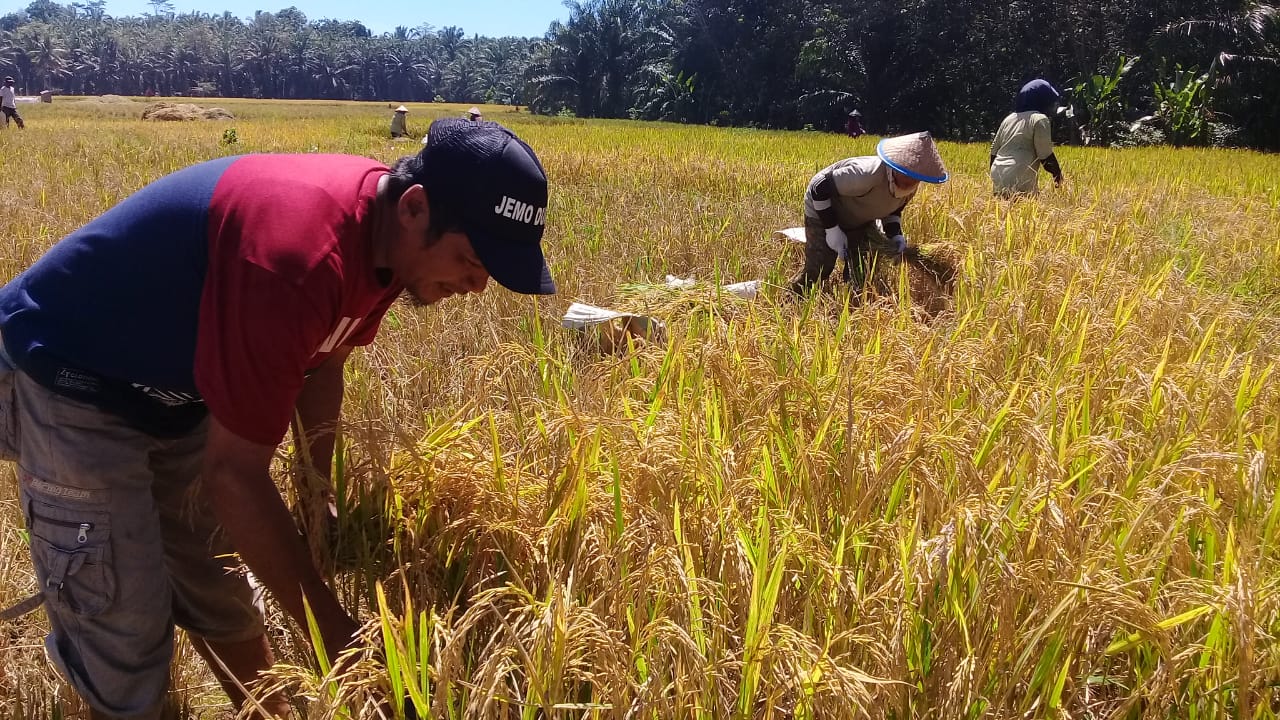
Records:
M13 0L0 0L0 6ZM58 0L67 4L69 0ZM17 0L14 9L26 8ZM294 6L308 20L332 18L360 20L375 35L390 32L396 26L417 27L429 23L436 28L458 26L471 35L522 35L541 37L554 19L564 19L568 10L561 0L411 0L408 3L352 3L349 0L173 0L174 10L252 17L253 10L276 12ZM109 15L143 15L151 5L146 0L106 0Z

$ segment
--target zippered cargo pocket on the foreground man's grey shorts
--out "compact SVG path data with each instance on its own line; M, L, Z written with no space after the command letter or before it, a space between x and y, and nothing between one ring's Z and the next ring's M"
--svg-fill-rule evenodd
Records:
M50 607L92 616L115 600L109 515L32 500L27 509L31 555Z

